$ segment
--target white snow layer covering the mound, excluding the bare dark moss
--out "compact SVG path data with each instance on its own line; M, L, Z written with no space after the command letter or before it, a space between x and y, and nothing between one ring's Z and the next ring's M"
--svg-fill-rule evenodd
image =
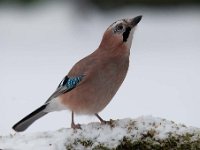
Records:
M147 133L152 138L163 140L169 135L194 134L193 141L200 139L200 129L186 127L162 118L142 116L137 119L110 120L110 124L99 122L82 124L81 130L63 128L57 131L39 133L15 133L0 137L0 148L3 150L65 150L91 149L98 145L116 148L124 137L132 141L141 139ZM83 143L85 142L85 143Z

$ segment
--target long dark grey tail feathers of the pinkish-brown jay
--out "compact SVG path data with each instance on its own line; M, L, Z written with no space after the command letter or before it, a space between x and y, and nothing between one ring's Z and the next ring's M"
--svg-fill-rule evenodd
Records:
M48 112L44 112L46 104L42 105L28 116L24 117L18 123L16 123L12 128L17 132L22 132L26 130L34 121L46 115Z

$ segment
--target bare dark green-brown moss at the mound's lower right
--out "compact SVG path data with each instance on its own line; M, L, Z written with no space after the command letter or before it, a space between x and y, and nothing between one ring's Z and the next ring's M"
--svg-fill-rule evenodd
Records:
M183 136L169 136L164 140L156 140L151 136L147 136L137 141L132 141L130 138L124 137L116 150L199 150L200 139L193 141L192 137L193 135L186 134Z

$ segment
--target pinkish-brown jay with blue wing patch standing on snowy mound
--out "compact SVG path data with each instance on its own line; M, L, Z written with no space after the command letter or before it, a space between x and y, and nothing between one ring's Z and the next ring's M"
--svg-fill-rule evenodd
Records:
M71 128L74 114L99 115L123 83L128 67L133 34L142 16L125 18L112 23L104 32L98 48L78 61L63 78L55 92L38 109L21 119L12 128L25 131L44 115L60 110L71 111Z

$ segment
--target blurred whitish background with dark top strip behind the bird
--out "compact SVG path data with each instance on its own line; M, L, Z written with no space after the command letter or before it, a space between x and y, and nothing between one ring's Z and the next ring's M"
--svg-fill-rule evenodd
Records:
M13 133L13 124L46 101L111 23L137 15L143 18L127 78L100 115L152 115L200 127L199 6L199 0L0 0L0 135ZM70 123L69 111L55 112L27 132Z

